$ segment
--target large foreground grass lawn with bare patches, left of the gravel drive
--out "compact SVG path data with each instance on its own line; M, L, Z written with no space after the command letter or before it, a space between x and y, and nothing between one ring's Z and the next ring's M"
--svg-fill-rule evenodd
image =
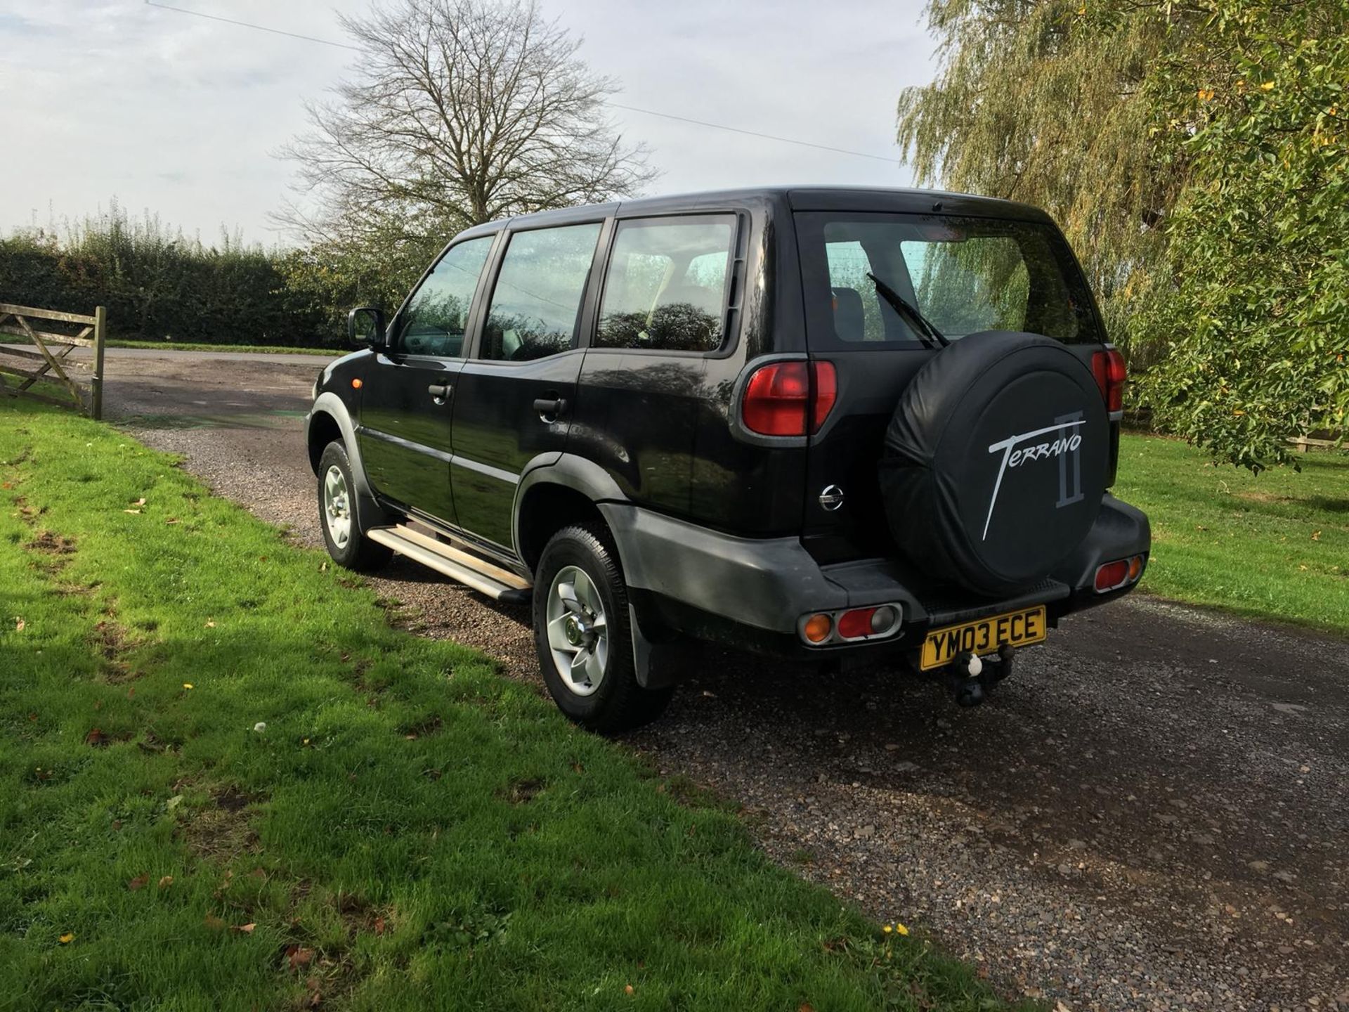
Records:
M0 1008L1002 1008L356 584L0 401Z

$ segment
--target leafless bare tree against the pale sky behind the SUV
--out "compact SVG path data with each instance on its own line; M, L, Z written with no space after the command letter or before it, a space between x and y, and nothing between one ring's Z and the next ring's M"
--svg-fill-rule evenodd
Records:
M656 173L604 100L618 84L529 0L394 0L343 18L357 77L308 107L282 151L302 204L277 220L310 242L425 244L494 219L637 193Z

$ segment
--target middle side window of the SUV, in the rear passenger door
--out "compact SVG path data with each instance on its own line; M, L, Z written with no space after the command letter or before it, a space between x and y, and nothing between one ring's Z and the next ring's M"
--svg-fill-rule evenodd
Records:
M529 362L576 347L599 223L515 232L496 275L482 358Z

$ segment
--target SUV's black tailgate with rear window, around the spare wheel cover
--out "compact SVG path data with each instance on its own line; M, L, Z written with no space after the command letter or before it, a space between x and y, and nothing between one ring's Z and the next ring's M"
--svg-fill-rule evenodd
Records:
M948 340L1041 333L1072 345L1089 368L1101 349L1095 308L1048 223L859 210L795 219L809 354L838 375L836 406L808 451L804 538L822 561L889 555L877 461L900 394L938 345L869 275Z

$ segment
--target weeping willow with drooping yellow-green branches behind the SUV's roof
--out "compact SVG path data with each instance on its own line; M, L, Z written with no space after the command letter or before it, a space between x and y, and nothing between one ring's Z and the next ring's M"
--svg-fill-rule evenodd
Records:
M1147 92L1182 15L1133 0L929 0L936 80L898 101L923 184L1045 208L1129 343L1183 177ZM1159 16L1160 13L1160 16ZM1156 349L1135 347L1144 364Z

